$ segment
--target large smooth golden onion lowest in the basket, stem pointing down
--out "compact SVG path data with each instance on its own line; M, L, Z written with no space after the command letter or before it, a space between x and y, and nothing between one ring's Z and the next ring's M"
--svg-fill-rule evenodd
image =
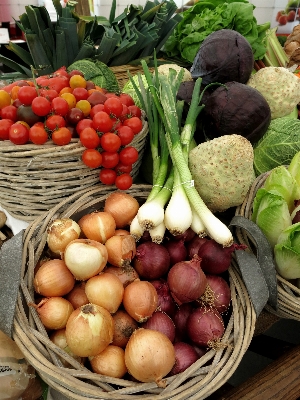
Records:
M128 372L140 382L156 382L165 387L163 378L175 364L175 349L167 336L151 329L139 328L125 348Z

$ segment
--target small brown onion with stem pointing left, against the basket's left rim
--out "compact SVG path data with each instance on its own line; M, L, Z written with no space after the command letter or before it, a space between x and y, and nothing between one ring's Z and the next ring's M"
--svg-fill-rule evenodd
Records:
M48 297L30 306L37 310L43 325L48 329L65 328L74 311L72 304L63 297Z

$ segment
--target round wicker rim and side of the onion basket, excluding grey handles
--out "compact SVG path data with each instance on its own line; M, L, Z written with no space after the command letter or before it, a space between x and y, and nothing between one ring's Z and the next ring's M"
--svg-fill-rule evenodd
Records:
M209 350L183 373L168 377L166 388L158 388L155 383L133 382L91 372L49 340L36 310L27 306L34 301L34 267L43 253L49 224L55 218L78 220L87 212L103 209L112 190L114 187L96 187L77 192L27 228L23 239L23 265L13 339L41 378L72 400L205 399L234 373L253 337L256 315L235 262L229 269L232 306L226 317L228 322L219 349ZM149 185L134 184L127 193L142 204L149 191ZM72 367L63 367L59 357Z

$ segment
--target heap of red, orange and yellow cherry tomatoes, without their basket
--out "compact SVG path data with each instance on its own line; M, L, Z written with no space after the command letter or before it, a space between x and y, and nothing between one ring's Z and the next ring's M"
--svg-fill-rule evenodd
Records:
M82 161L101 168L103 184L126 190L138 151L130 146L141 132L141 109L126 93L110 93L65 67L51 76L19 80L0 89L0 141L63 146L79 138Z

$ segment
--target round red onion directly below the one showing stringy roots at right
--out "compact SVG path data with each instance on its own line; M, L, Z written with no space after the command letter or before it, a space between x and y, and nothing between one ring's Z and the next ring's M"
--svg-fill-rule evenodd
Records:
M203 347L217 347L224 334L221 314L213 307L198 307L187 320L187 333L192 342Z

